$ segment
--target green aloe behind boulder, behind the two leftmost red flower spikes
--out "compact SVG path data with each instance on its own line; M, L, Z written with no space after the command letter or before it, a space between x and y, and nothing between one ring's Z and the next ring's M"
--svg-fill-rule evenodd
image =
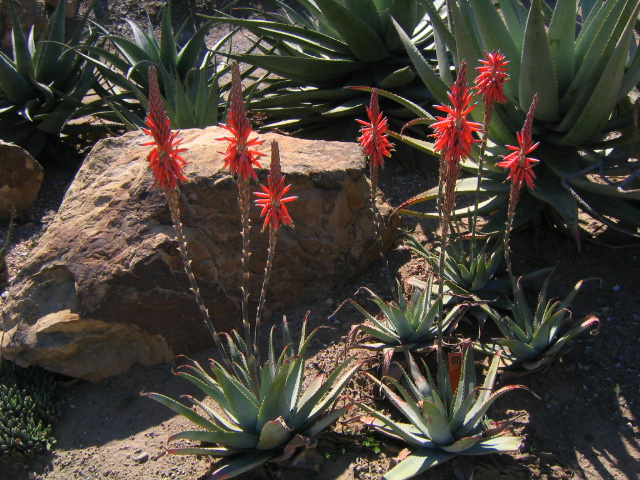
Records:
M85 49L101 58L93 61L102 80L96 92L108 108L99 116L121 123L129 130L142 128L149 101L146 72L149 66L154 66L165 109L174 128L217 125L226 105L224 97L231 88L231 82L221 83L221 78L230 69L228 62L221 58L221 52L230 51L233 32L207 50L204 39L213 22L206 22L179 46L182 28L173 31L169 5L162 13L159 38L150 21L146 31L131 20L127 22L133 32L133 41L105 31L105 38L115 52L100 47ZM251 73L248 71L244 75Z

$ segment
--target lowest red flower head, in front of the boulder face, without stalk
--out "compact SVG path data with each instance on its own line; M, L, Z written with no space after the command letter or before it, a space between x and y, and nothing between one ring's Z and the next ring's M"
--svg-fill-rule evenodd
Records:
M273 230L280 228L280 223L289 227L293 226L293 221L287 211L285 203L293 202L298 197L285 197L284 195L291 189L291 185L284 186L284 176L280 170L280 151L278 142L271 142L271 171L269 173L269 186L260 185L262 192L254 192L256 205L262 207L260 212L264 218L262 231L269 226Z

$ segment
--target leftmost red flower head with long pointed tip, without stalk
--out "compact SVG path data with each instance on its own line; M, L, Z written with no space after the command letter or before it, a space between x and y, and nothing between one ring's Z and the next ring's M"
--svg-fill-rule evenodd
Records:
M153 137L152 142L142 144L154 147L147 157L149 167L153 171L153 186L175 190L178 188L178 182L188 180L182 170L187 162L180 156L187 149L176 148L182 142L182 138L178 138L179 132L171 133L171 124L162 104L155 67L149 67L149 112L145 123L148 128L143 131Z

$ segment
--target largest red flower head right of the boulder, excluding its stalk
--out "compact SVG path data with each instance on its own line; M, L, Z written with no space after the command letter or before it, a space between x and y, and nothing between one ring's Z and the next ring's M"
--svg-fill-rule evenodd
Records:
M467 64L462 62L458 78L451 92L447 93L452 106L435 105L438 110L447 113L446 117L436 117L431 125L436 137L434 150L442 152L447 162L458 163L471 155L471 146L476 142L473 132L482 131L482 125L467 120L475 105L471 105L471 94L466 80Z

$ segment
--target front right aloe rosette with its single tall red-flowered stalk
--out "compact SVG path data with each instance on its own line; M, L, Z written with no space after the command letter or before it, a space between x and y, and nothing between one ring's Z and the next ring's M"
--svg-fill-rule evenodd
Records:
M382 413L362 406L371 417L365 423L379 432L392 438L404 440L415 449L405 460L399 463L384 478L387 480L404 480L438 465L456 455L482 455L494 452L517 450L521 443L518 437L502 437L500 434L510 425L502 422L495 428L485 425L485 416L491 404L503 393L516 386L493 391L500 354L491 363L489 373L480 388L475 385L474 362L471 351L464 354L463 368L459 381L452 381L455 371L447 370L443 358L444 316L443 288L445 282L445 261L448 251L449 221L455 205L455 184L458 180L460 162L471 154L474 132L479 132L482 125L467 120L473 110L471 94L466 83L466 64L463 62L458 78L449 93L451 105L439 106L446 112L446 117L439 117L432 127L435 130L435 148L441 154L440 162L440 258L438 264L439 286L438 297L434 303L427 305L423 299L430 297L432 288L428 285L423 297L412 299L410 313L407 318L403 309L394 305L386 306L378 301L378 306L387 317L394 318L394 324L410 331L407 326L414 324L415 319L424 318L425 325L436 318L437 333L437 377L434 379L427 369L427 378L420 372L408 349L407 359L411 376L403 372L402 382L385 378L384 381L371 379L378 383L386 397L402 413L409 423L396 422ZM417 305L417 308L416 308ZM460 308L458 305L456 308ZM422 311L426 311L424 314ZM455 311L455 309L453 310ZM420 313L422 315L420 315ZM367 333L372 336L380 332L388 334L369 316L369 320L377 327L370 328ZM425 327L421 326L421 330ZM388 330L388 329L387 329ZM455 354L454 354L455 355Z

